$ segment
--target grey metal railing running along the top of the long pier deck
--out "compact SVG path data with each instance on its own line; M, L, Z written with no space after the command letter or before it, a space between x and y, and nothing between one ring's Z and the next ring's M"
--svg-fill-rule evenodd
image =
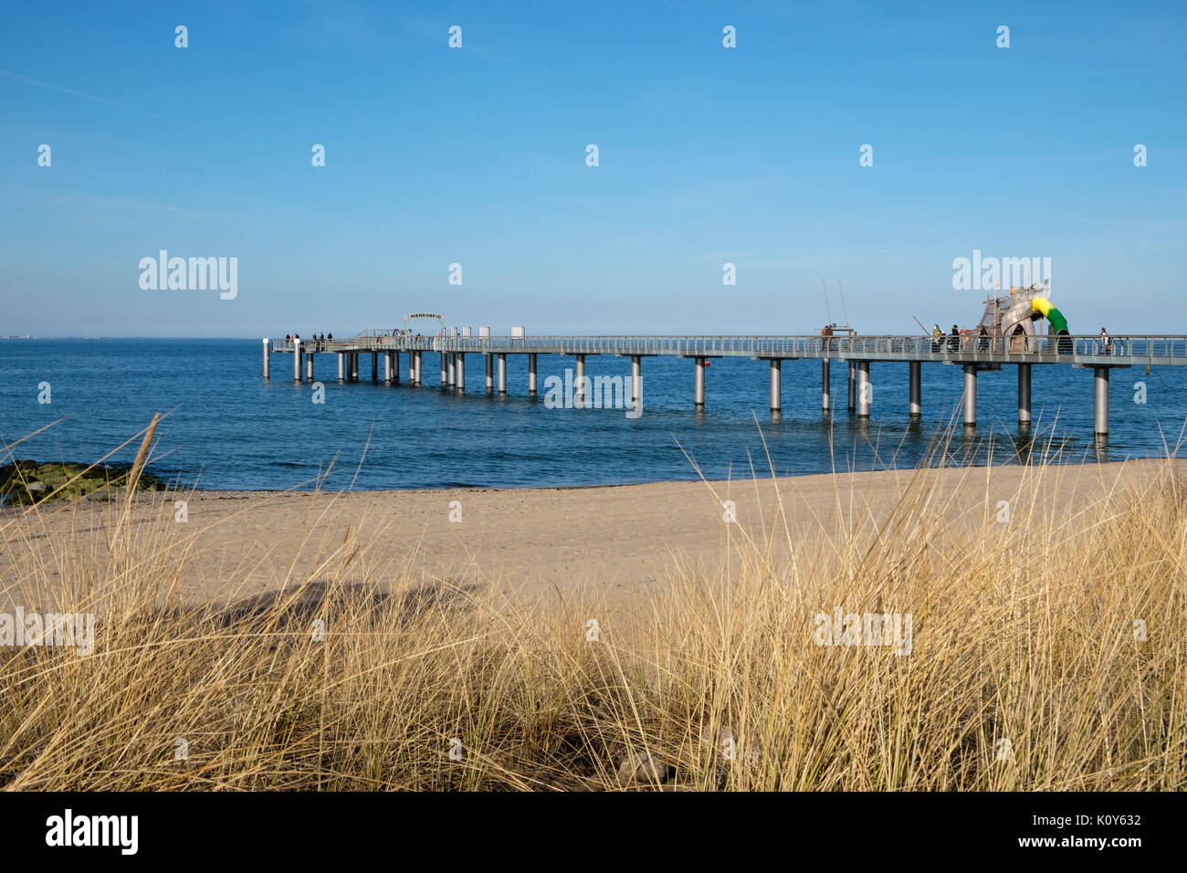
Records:
M294 343L273 340L272 350ZM985 363L1187 365L1187 336L1122 335L1106 350L1097 335L952 336L418 336L367 331L342 340L301 340L303 353L461 352L474 354L675 355L683 358L832 358Z

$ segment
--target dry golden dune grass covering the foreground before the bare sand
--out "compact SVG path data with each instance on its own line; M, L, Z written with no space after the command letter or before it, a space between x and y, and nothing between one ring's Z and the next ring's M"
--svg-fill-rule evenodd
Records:
M1168 461L1058 514L1033 496L1058 475L1030 467L1002 523L989 500L946 512L921 469L848 531L786 530L767 482L719 571L674 568L596 628L589 594L379 578L383 543L357 536L311 536L315 569L277 594L185 603L185 525L110 504L104 548L46 559L45 518L72 507L9 513L0 544L27 551L38 606L95 613L97 641L0 650L0 784L1182 790L1187 487ZM909 653L818 645L837 609L909 614Z

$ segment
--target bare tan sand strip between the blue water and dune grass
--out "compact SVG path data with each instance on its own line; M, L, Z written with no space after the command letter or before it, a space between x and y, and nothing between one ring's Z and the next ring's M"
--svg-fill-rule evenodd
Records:
M780 480L664 482L596 488L354 493L192 492L139 495L138 529L157 527L188 551L178 580L188 601L235 600L345 571L381 584L437 582L527 596L592 589L611 602L673 578L673 568L718 574L738 549L777 557L821 538L872 537L913 488L929 515L983 524L1001 501L1035 501L1040 514L1090 527L1093 504L1148 479L1163 463L884 470ZM184 501L184 511L177 501ZM735 524L725 521L732 501ZM65 549L108 548L114 504L8 510L0 514L4 597L37 602L31 553L55 577ZM1080 514L1087 513L1083 523ZM34 525L20 524L39 517ZM184 519L184 521L182 520ZM354 543L350 567L341 546ZM337 551L337 553L335 553ZM84 565L77 561L72 567Z

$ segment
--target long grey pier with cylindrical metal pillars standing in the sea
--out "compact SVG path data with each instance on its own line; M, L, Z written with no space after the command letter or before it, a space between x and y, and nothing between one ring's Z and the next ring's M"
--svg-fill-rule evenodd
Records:
M507 355L527 355L528 394L537 393L539 355L565 355L575 360L577 384L585 374L589 355L614 355L630 359L631 400L640 397L645 358L668 355L692 360L692 406L705 405L705 366L715 358L749 358L764 361L770 372L770 411L782 407L782 367L785 361L818 360L821 367L820 407L832 409L831 363L838 361L849 369L849 411L868 418L872 400L874 375L878 367L906 363L908 373L907 413L922 415L921 369L925 363L959 367L964 374L963 422L977 426L977 377L985 371L1017 367L1018 425L1030 425L1030 373L1036 365L1068 366L1093 371L1093 430L1105 438L1109 434L1109 374L1125 367L1187 366L1187 336L1113 336L1106 353L1099 336L480 336L469 329L455 336L420 336L407 330L367 330L345 340L285 341L265 337L264 378L271 377L271 355L293 355L293 379L312 380L313 355L337 355L338 380L356 381L361 355L370 355L370 378L379 381L379 361L383 361L383 382L400 382L400 359L406 355L408 384L421 386L421 358L427 352L440 361L440 384L445 388L465 391L465 358L482 355L485 368L485 392L507 393ZM304 367L301 366L304 363ZM496 384L497 375L497 384Z

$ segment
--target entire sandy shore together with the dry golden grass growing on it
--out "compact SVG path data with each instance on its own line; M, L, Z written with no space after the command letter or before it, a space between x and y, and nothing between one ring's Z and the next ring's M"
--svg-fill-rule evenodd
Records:
M6 786L1181 790L1185 481L7 510Z

